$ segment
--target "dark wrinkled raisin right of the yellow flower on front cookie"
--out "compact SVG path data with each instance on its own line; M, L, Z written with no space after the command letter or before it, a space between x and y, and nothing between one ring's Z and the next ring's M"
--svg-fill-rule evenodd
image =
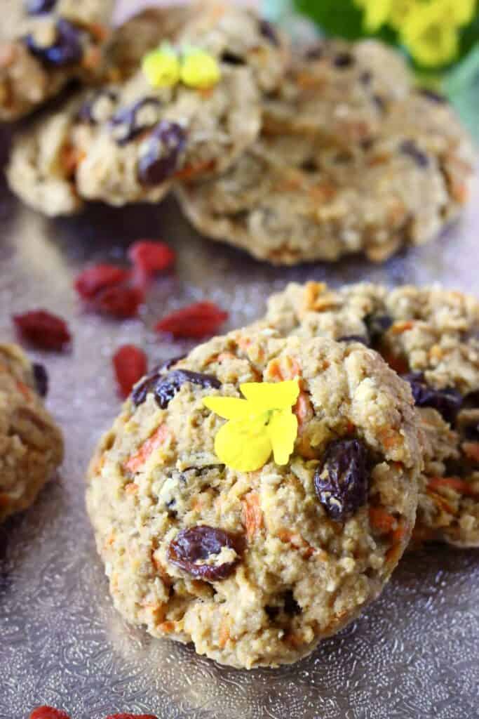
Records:
M366 447L358 439L338 439L327 446L315 472L315 490L327 516L343 521L368 500Z

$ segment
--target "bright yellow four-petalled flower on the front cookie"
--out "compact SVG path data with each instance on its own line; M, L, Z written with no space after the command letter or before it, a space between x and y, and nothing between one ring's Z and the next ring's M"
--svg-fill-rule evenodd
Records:
M228 419L215 436L215 452L238 472L254 472L268 462L287 464L294 449L298 421L292 406L299 395L297 380L248 382L240 386L246 399L205 397L203 403Z

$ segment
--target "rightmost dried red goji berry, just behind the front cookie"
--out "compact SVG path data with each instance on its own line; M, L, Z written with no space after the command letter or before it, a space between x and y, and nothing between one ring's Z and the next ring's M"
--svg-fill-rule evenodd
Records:
M226 319L228 313L212 302L197 302L167 315L154 329L158 332L169 332L175 338L201 339L215 334Z

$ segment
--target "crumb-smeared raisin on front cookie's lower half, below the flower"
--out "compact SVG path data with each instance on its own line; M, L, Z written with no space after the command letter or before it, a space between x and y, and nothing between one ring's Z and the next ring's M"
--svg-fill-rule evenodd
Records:
M213 554L220 554L223 547L234 549L238 557L224 564L198 564ZM205 524L183 529L168 547L168 559L180 569L197 579L215 582L229 577L238 564L245 548L241 534L232 534L224 529L208 527Z

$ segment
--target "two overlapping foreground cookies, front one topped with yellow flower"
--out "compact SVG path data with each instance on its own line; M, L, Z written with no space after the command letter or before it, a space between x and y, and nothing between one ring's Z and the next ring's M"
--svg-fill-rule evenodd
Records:
M150 372L88 477L116 608L274 667L361 613L407 547L479 546L478 330L458 292L293 284Z

